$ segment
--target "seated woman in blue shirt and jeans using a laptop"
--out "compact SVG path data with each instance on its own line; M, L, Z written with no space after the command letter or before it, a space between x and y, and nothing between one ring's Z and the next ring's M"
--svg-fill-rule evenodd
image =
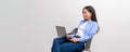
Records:
M95 11L91 5L82 9L83 21L79 23L76 34L53 40L52 52L81 52L88 39L98 31Z

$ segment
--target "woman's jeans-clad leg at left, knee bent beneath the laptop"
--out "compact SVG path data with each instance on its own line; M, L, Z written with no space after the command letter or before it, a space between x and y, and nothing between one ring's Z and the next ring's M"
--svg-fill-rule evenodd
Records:
M53 40L53 44L52 44L52 52L61 52L61 44L67 42L69 40L67 40L65 37L62 37L62 38L55 38Z

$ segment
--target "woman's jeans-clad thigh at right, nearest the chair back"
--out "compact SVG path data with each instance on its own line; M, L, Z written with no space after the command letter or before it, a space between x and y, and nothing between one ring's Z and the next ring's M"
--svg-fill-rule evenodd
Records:
M84 49L84 43L81 42L66 42L61 44L62 52L81 52Z

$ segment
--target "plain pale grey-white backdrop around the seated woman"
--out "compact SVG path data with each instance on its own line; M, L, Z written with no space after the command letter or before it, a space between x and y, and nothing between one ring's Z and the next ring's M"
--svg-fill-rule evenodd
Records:
M0 0L0 52L51 52L56 25L67 32L93 5L100 25L92 52L130 52L129 0Z

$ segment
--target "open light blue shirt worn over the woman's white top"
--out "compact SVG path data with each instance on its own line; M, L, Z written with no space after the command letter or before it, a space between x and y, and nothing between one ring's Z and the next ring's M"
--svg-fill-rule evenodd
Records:
M88 22L88 24L84 26L84 29L83 29L83 37L78 38L79 42L86 42L88 39L92 38L98 30L98 23L96 22L93 22L93 21L87 21L87 22ZM83 23L86 23L86 21L81 21L79 23L79 26L81 26ZM70 35L72 38L74 36L76 36L76 34Z

